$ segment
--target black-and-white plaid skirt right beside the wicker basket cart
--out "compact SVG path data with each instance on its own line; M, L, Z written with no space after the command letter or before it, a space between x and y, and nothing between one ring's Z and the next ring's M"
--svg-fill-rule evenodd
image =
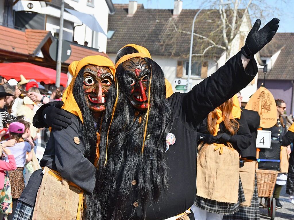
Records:
M251 199L251 205L240 206L239 211L233 215L224 215L223 220L259 220L259 202L257 191L257 178L255 173L255 186Z

